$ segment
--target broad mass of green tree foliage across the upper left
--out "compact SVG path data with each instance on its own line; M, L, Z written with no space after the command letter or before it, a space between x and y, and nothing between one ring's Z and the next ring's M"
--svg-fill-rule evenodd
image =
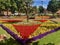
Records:
M15 12L15 11L26 12L26 8L29 6L27 3L31 5L32 0L26 0L26 1L24 0L0 0L0 11L11 10L12 12Z

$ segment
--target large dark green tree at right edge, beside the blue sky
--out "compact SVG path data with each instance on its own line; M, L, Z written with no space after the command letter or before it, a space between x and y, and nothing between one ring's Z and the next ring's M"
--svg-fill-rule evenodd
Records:
M49 1L47 10L51 11L53 14L60 8L60 1L51 0Z

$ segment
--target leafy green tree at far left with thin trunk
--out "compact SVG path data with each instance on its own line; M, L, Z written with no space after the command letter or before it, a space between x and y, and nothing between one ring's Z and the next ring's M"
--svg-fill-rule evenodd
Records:
M10 10L11 4L10 4L10 0L3 0L0 1L0 9L2 10L6 10L7 11L7 15L8 15L8 11Z

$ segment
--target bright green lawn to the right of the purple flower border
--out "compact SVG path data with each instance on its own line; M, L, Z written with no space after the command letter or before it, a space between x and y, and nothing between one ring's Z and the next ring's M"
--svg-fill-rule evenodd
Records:
M48 43L54 43L55 45L60 45L60 31L49 34L44 38L40 39L38 45L43 45Z

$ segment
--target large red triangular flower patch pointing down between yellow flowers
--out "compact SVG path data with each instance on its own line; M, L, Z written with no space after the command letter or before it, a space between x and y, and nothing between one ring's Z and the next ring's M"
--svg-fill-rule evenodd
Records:
M31 35L40 25L13 25L15 29L20 32L23 39L26 39Z

